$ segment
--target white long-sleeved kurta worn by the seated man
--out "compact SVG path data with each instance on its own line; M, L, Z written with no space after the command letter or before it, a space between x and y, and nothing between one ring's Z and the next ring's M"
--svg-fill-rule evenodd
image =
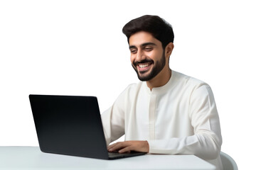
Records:
M171 71L167 84L150 90L131 84L102 113L107 140L147 140L149 153L195 154L223 169L222 137L213 92L208 84Z

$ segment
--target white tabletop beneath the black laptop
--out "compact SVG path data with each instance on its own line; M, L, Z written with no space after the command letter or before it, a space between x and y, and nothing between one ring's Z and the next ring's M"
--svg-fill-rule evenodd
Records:
M39 147L0 147L0 169L215 169L194 155L146 154L115 160L46 154Z

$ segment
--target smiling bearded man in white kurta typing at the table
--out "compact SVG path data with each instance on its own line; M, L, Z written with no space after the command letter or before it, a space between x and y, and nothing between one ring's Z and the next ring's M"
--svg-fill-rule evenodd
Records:
M169 68L174 33L159 16L129 21L127 36L139 84L131 84L102 113L109 152L195 154L222 169L222 137L208 84Z

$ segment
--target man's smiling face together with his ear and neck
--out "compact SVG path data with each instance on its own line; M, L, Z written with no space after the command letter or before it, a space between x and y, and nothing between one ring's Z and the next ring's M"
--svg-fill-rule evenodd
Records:
M169 57L174 48L170 42L163 49L161 42L145 31L134 33L129 38L132 67L141 81L147 81L150 89L163 86L171 77Z

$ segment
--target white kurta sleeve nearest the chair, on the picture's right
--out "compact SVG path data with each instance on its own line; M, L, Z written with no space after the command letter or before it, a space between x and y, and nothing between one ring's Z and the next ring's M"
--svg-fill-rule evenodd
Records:
M216 159L222 137L215 100L210 86L203 84L189 96L188 115L194 135L148 140L149 152L158 154L195 154L203 159ZM168 130L166 130L168 131Z

